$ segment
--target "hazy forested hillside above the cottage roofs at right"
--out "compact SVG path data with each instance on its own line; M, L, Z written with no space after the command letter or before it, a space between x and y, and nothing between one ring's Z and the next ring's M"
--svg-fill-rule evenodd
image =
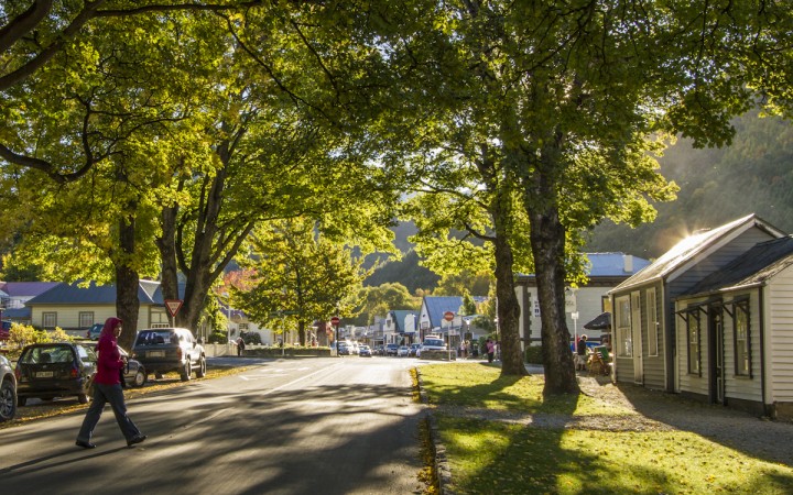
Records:
M793 232L793 124L752 114L735 127L729 147L694 150L681 140L669 148L661 170L681 187L677 200L656 205L655 222L639 229L610 222L598 227L587 250L653 258L685 233L749 213Z

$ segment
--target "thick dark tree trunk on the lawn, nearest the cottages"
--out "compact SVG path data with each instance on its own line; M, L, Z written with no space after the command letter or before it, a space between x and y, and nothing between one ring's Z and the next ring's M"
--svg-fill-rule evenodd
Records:
M543 395L579 393L565 319L565 229L555 208L532 211L531 246L542 321Z

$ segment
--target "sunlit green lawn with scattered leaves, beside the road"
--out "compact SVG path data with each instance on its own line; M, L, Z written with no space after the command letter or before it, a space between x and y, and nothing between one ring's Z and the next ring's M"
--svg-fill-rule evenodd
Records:
M430 404L531 414L636 414L579 396L542 400L542 377L501 378L500 369L420 369ZM546 429L436 414L458 494L790 494L793 469L685 431Z

